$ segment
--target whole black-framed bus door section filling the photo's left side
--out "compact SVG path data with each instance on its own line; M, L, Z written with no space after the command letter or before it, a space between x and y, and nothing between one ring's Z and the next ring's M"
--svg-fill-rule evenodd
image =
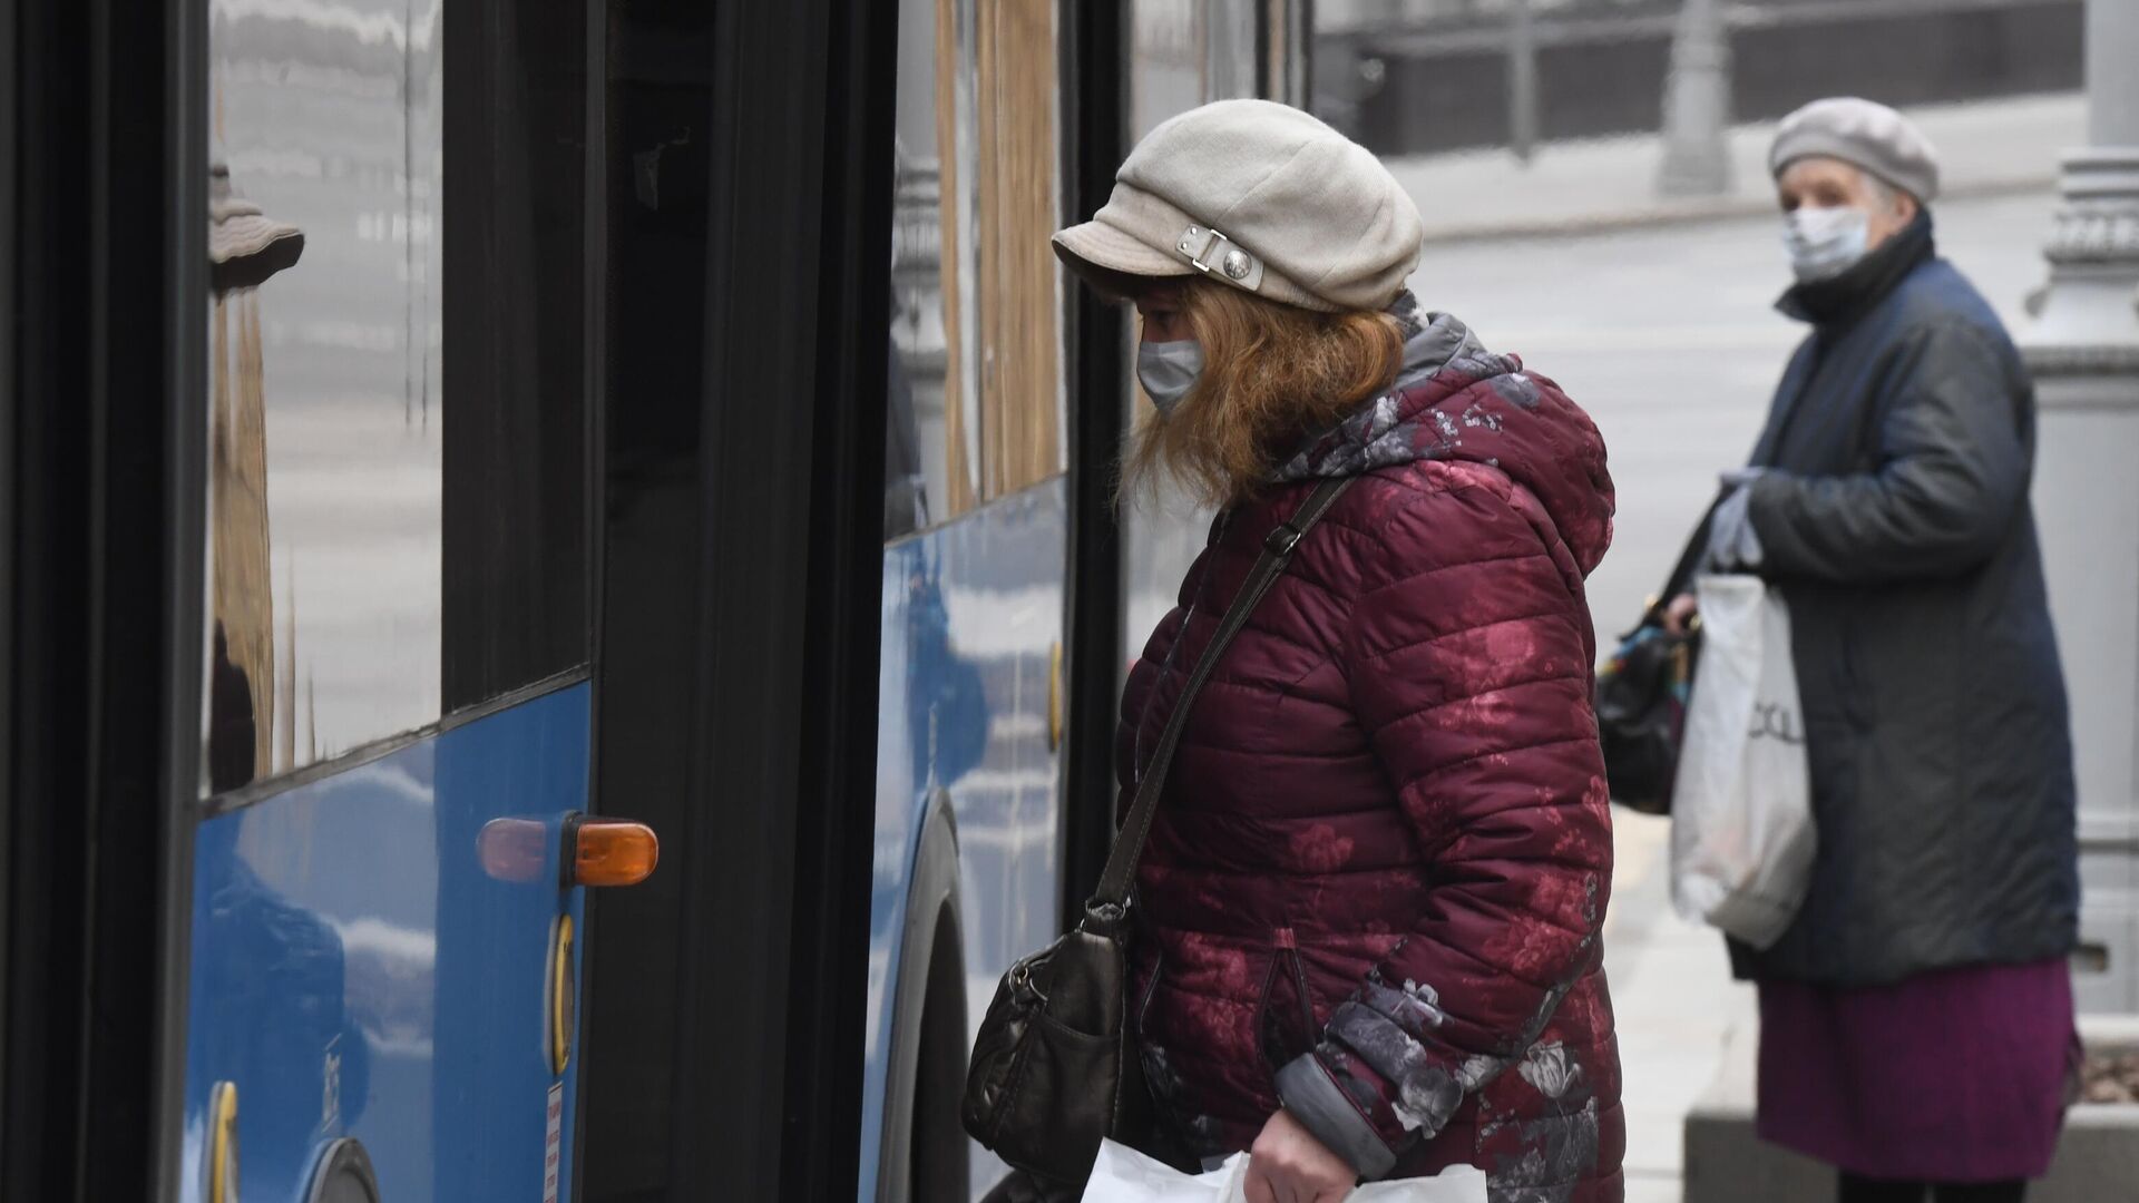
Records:
M853 1194L894 28L0 30L0 1194Z

